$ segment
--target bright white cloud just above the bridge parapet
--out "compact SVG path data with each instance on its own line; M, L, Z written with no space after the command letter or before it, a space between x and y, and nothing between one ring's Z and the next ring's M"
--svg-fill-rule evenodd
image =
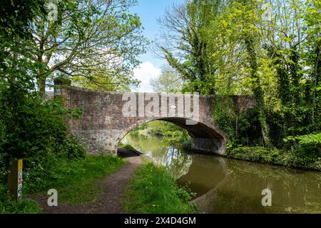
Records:
M151 79L161 75L161 69L156 68L151 62L143 62L138 68L133 70L135 78L141 81L137 92L153 92L153 87L149 84Z

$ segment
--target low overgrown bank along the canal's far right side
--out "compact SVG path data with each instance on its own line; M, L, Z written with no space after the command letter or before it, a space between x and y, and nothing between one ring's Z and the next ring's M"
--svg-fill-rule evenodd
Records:
M266 147L238 147L228 150L227 156L239 160L321 171L321 157L312 152L306 154Z

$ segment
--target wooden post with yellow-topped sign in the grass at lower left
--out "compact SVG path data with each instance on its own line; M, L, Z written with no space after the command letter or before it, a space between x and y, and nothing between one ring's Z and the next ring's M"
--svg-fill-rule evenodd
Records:
M22 182L22 159L19 159L11 165L8 176L10 193L17 201L22 197Z

